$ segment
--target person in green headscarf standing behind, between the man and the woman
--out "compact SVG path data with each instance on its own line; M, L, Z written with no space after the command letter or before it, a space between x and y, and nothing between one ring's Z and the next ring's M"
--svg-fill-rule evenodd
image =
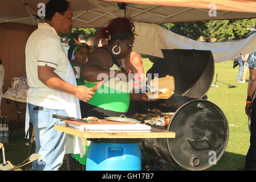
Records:
M92 48L87 44L79 44L71 47L68 52L68 59L70 60L71 66L75 72L76 84L84 85L84 79L80 77L80 71L82 70L84 64L88 60L88 55L91 53ZM80 101L80 105L83 101ZM82 111L81 111L82 112ZM87 142L87 141L86 141ZM88 142L85 144L86 146L86 154L83 158L80 157L80 154L71 154L72 158L78 160L80 164L86 165L87 152L89 148ZM70 158L69 158L70 159ZM69 160L70 164L68 164L68 168L72 168L72 162ZM74 164L74 163L73 163Z

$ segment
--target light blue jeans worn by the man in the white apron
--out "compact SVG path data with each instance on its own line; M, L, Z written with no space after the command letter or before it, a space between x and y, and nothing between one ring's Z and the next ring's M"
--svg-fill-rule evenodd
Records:
M36 105L29 104L30 122L35 132L35 153L40 158L33 163L35 171L57 171L63 163L67 134L54 129L54 125L65 123L52 118L52 114L67 115L65 110L52 110L42 107L35 110Z

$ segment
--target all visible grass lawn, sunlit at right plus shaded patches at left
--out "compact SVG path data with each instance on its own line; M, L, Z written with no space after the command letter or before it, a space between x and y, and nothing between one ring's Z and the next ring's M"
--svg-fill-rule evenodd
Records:
M148 59L143 59L145 73L151 68L152 63ZM238 67L233 69L233 61L215 64L215 74L213 83L218 80L227 84L235 85L237 88L227 88L227 85L217 82L218 87L212 87L207 93L211 102L216 104L224 112L229 122L229 142L226 151L216 165L207 170L230 171L242 168L245 163L245 155L249 148L250 133L247 126L247 116L245 114L245 103L247 96L247 82L241 84L236 82ZM247 73L247 78L249 72ZM17 165L27 158L29 146L25 145L23 130L16 130L5 144L6 159ZM2 152L0 152L0 163L2 163ZM24 169L24 168L22 168ZM63 164L62 170L66 170ZM168 169L172 169L169 167Z

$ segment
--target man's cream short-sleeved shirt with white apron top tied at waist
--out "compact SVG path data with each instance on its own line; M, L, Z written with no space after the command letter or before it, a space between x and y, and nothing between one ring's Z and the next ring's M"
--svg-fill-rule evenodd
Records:
M48 109L63 109L56 90L48 88L38 78L38 66L48 65L63 80L67 76L68 59L63 51L60 37L48 23L39 23L26 44L26 74L30 90L27 102Z

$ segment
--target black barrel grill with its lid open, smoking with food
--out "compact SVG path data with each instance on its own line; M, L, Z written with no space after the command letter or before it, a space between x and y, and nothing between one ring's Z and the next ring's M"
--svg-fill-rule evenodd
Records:
M211 51L163 49L164 75L174 77L175 90L168 100L131 102L127 115L148 113L149 109L174 112L168 127L174 139L143 139L141 147L149 154L189 170L211 167L224 154L229 125L221 109L202 99L214 76ZM159 127L152 126L157 131Z

